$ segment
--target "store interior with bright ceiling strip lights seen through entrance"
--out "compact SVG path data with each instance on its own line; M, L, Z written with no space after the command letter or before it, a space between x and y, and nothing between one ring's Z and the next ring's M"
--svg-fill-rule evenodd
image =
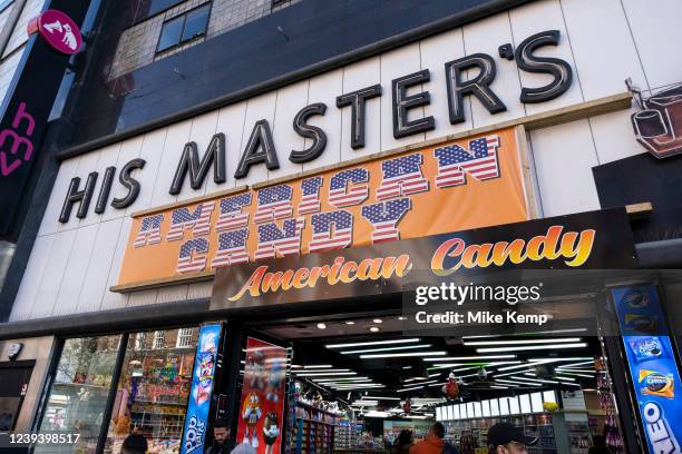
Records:
M389 452L401 431L417 443L439 421L462 454L487 453L487 431L501 422L538 438L529 453L587 453L601 436L623 452L608 362L585 328L430 337L407 336L402 320L383 314L252 332L288 351L293 408L283 451Z

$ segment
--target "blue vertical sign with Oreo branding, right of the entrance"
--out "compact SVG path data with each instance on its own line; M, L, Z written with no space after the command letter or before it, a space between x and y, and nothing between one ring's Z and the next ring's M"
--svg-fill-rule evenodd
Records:
M675 396L681 392L680 371L656 288L647 285L612 292L649 451L681 453L682 398Z

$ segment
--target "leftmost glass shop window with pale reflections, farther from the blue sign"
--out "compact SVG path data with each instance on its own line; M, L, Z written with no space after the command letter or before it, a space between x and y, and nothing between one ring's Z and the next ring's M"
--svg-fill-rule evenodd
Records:
M80 434L76 445L68 445L68 452L95 452L120 339L100 336L65 342L38 432ZM46 444L37 445L35 452L62 452L55 450Z

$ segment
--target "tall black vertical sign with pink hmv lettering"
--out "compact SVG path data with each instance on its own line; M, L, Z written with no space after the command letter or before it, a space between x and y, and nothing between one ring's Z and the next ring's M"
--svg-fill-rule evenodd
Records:
M45 9L60 10L81 23L89 3L53 0ZM68 62L69 56L35 33L0 107L0 238L18 234L19 214L32 194L32 176L40 170L41 139Z

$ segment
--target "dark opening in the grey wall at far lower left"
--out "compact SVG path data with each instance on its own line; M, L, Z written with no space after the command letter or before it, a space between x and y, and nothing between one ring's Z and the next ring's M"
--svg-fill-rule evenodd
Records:
M0 363L0 433L14 430L35 362Z

